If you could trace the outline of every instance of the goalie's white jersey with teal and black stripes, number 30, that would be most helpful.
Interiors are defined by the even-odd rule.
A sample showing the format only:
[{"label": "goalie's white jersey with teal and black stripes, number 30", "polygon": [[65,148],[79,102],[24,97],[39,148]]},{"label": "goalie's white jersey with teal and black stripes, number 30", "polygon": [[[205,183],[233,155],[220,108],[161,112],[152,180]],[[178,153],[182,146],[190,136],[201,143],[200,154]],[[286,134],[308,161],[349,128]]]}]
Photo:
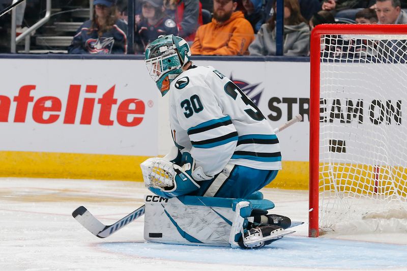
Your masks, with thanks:
[{"label": "goalie's white jersey with teal and black stripes, number 30", "polygon": [[280,144],[257,106],[213,67],[188,69],[171,82],[172,138],[213,177],[227,164],[281,169]]}]

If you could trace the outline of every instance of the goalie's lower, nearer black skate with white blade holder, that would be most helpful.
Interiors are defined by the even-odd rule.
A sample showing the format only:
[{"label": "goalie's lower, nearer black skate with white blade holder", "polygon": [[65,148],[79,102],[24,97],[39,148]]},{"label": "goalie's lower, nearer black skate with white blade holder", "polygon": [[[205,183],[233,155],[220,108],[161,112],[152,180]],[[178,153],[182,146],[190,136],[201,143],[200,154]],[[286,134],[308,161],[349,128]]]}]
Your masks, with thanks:
[{"label": "goalie's lower, nearer black skate with white blade holder", "polygon": [[244,237],[239,240],[239,246],[243,249],[261,248],[294,232],[276,225],[258,226],[245,232]]}]

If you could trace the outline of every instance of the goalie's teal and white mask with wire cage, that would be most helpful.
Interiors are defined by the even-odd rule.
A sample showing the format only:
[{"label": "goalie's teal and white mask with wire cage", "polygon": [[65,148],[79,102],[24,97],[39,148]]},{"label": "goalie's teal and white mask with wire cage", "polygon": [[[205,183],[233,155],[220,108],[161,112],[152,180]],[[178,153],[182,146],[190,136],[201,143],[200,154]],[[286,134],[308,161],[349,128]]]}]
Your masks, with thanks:
[{"label": "goalie's teal and white mask with wire cage", "polygon": [[160,36],[146,49],[146,66],[151,78],[164,96],[172,80],[182,73],[190,60],[188,43],[178,36]]}]

